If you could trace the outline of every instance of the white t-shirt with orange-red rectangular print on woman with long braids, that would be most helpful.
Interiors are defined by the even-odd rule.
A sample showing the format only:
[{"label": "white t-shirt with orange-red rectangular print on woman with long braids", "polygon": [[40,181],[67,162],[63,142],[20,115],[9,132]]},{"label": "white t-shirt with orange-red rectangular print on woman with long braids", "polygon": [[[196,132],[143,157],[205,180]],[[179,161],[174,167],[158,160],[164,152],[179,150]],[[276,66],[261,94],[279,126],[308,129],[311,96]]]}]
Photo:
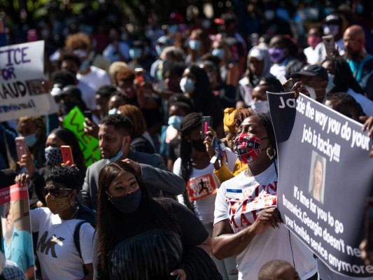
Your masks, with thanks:
[{"label": "white t-shirt with orange-red rectangular print on woman with long braids", "polygon": [[[225,151],[228,160],[227,167],[232,171],[237,160],[236,155],[228,148]],[[190,202],[195,207],[195,214],[199,221],[204,225],[213,223],[216,191],[220,187],[218,178],[213,174],[213,169],[212,163],[204,169],[192,168],[192,174],[190,174],[187,184]],[[174,164],[174,174],[181,176],[181,158],[178,158]],[[184,204],[183,195],[178,195],[178,202]]]}]

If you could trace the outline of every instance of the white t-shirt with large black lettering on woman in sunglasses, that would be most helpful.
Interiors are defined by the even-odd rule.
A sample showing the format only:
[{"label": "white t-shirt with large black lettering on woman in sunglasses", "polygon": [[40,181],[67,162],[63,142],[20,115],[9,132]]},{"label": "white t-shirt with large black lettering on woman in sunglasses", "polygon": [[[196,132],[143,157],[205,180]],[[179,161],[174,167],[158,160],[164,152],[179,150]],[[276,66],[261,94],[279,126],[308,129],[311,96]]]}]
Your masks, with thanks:
[{"label": "white t-shirt with large black lettering on woman in sunglasses", "polygon": [[[31,228],[38,232],[36,254],[44,280],[82,279],[83,265],[73,241],[76,225],[82,220],[61,220],[49,208],[31,210]],[[85,264],[92,263],[94,228],[90,223],[80,227],[80,252]]]}]

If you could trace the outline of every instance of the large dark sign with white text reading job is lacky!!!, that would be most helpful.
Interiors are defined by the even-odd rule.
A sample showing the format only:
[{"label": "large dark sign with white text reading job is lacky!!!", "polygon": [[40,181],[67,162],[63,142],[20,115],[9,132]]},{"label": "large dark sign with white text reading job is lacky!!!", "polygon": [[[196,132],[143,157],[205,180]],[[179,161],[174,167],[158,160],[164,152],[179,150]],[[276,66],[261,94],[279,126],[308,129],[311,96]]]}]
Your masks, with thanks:
[{"label": "large dark sign with white text reading job is lacky!!!", "polygon": [[372,139],[356,121],[303,94],[267,96],[283,222],[334,272],[373,276],[373,266],[363,265],[358,249],[373,188]]}]

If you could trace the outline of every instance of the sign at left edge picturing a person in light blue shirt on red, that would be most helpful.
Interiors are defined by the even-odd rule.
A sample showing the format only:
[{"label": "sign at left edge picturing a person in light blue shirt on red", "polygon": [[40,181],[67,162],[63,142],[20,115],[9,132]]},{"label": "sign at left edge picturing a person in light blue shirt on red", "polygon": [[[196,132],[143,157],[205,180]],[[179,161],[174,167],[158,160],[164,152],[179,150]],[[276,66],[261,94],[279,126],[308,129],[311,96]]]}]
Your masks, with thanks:
[{"label": "sign at left edge picturing a person in light blue shirt on red", "polygon": [[34,267],[28,194],[27,186],[18,184],[0,190],[1,251],[23,272]]}]

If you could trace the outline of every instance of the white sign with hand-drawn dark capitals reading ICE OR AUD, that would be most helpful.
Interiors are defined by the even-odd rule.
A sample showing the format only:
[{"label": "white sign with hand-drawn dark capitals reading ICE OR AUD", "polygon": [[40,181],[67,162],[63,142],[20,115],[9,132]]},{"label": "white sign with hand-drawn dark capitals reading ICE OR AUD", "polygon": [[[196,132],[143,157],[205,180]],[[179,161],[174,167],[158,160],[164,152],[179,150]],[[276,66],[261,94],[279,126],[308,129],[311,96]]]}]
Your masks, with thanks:
[{"label": "white sign with hand-drawn dark capitals reading ICE OR AUD", "polygon": [[1,47],[0,121],[56,113],[44,80],[44,41]]}]

